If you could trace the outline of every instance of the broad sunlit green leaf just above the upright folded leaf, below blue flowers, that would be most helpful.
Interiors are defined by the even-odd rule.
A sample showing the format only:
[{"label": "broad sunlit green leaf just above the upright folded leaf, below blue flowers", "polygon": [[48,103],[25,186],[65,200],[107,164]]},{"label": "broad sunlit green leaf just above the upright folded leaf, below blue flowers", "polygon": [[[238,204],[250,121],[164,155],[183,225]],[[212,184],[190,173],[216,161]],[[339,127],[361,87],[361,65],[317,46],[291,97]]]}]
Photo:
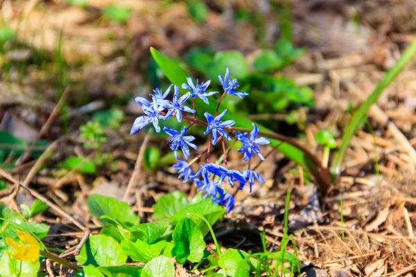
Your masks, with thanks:
[{"label": "broad sunlit green leaf just above the upright folded leaf, below blue flowers", "polygon": [[182,209],[179,213],[175,214],[172,219],[173,220],[181,220],[184,217],[190,217],[193,222],[200,228],[202,235],[206,235],[209,231],[207,224],[199,217],[196,217],[192,214],[202,215],[205,217],[209,224],[212,226],[223,217],[225,213],[225,209],[218,205],[211,202],[211,199],[203,199],[202,201],[187,206]]}]

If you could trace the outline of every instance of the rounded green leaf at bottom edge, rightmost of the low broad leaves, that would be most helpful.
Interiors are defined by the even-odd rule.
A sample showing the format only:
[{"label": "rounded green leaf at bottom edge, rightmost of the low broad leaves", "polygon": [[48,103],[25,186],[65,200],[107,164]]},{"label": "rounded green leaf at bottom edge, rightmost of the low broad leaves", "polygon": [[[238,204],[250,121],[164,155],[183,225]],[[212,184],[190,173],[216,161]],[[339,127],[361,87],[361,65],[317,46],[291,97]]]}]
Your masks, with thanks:
[{"label": "rounded green leaf at bottom edge, rightmost of the low broad leaves", "polygon": [[[218,260],[218,265],[225,270],[227,276],[249,276],[250,260],[248,253],[237,249],[227,249]],[[237,275],[237,272],[242,275]]]}]

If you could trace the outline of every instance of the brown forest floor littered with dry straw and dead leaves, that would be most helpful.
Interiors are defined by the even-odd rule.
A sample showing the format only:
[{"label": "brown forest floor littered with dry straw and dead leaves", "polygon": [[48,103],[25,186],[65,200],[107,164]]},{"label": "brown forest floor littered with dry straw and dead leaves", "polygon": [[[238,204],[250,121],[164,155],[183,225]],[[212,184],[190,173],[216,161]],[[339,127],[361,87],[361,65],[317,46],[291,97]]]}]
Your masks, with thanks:
[{"label": "brown forest floor littered with dry straw and dead leaves", "polygon": [[[139,181],[125,197],[146,134],[129,134],[141,114],[134,97],[148,96],[162,82],[149,62],[150,46],[178,59],[192,46],[211,46],[216,51],[236,49],[250,60],[259,48],[272,45],[279,33],[268,1],[260,0],[235,0],[229,6],[207,1],[210,10],[203,23],[193,21],[180,1],[121,0],[119,6],[132,10],[123,24],[101,17],[110,0],[89,0],[87,8],[58,0],[0,2],[3,22],[16,30],[15,39],[3,45],[0,55],[0,132],[3,139],[8,133],[27,145],[42,139],[51,153],[33,157],[24,154],[27,148],[13,152],[10,148],[17,146],[0,137],[0,150],[7,153],[0,156],[0,169],[92,229],[99,223],[87,213],[88,195],[126,200],[142,222],[149,222],[159,197],[177,190],[192,192],[192,185],[177,179],[171,164],[166,164],[139,170]],[[234,20],[232,10],[237,8],[264,15],[261,26]],[[297,124],[286,123],[287,111],[261,116],[279,126],[275,132],[293,137],[321,158],[315,134],[330,129],[340,142],[351,110],[415,39],[415,8],[410,0],[293,1],[293,43],[306,53],[274,74],[311,87],[314,107],[298,108],[302,120]],[[328,196],[320,195],[319,186],[293,161],[279,152],[270,155],[258,169],[266,184],[237,194],[234,211],[214,226],[223,247],[259,250],[257,234],[265,232],[268,249],[277,251],[284,235],[286,191],[291,189],[288,226],[303,274],[415,273],[415,76],[413,61],[370,109]],[[111,163],[88,174],[57,167],[68,157],[94,157],[94,150],[80,137],[80,125],[112,108],[124,116],[116,127],[105,128],[107,140],[100,145],[104,153],[112,153]],[[168,145],[160,136],[150,136],[148,146],[158,148],[164,157]],[[37,143],[30,152],[45,148]],[[233,156],[229,164],[241,166]],[[15,211],[35,199],[6,179],[0,185],[0,201]],[[31,220],[51,226],[45,239],[49,247],[69,249],[83,238],[83,232],[76,232],[53,209]],[[293,249],[293,244],[287,248]]]}]

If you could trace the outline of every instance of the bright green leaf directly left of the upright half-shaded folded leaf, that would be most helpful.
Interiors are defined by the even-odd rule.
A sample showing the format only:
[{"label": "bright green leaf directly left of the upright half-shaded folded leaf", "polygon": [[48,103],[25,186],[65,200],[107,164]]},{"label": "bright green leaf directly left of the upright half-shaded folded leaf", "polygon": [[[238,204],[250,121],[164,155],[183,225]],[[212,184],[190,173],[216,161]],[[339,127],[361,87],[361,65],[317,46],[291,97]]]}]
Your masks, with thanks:
[{"label": "bright green leaf directly left of the upright half-shaded folded leaf", "polygon": [[165,240],[161,240],[154,244],[147,244],[141,240],[136,240],[135,242],[123,240],[121,242],[121,247],[123,247],[123,252],[130,256],[132,260],[135,260],[136,262],[148,262],[161,255],[168,244],[170,244],[170,242],[166,242]]}]

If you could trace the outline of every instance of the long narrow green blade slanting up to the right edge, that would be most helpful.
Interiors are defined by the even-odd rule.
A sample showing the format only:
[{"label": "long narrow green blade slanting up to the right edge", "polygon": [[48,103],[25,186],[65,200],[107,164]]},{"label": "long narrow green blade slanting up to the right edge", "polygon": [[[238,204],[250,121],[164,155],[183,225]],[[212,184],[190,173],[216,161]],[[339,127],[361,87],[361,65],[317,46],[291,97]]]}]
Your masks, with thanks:
[{"label": "long narrow green blade slanting up to the right edge", "polygon": [[340,174],[340,167],[343,163],[345,153],[347,152],[347,149],[349,148],[349,143],[356,133],[356,130],[358,127],[363,123],[363,120],[365,119],[365,116],[367,114],[367,111],[370,109],[370,107],[376,102],[376,100],[379,98],[381,93],[384,91],[388,85],[395,80],[397,75],[404,69],[404,66],[410,62],[410,60],[413,58],[413,55],[416,53],[416,39],[413,41],[408,48],[403,52],[400,59],[397,61],[396,65],[388,71],[388,73],[385,74],[383,80],[377,84],[377,87],[372,91],[370,96],[363,102],[360,107],[354,112],[351,121],[349,122],[347,128],[345,128],[345,132],[343,134],[343,139],[340,144],[340,148],[335,154],[335,157],[333,159],[333,163],[331,166],[331,174],[333,176],[338,176]]}]

